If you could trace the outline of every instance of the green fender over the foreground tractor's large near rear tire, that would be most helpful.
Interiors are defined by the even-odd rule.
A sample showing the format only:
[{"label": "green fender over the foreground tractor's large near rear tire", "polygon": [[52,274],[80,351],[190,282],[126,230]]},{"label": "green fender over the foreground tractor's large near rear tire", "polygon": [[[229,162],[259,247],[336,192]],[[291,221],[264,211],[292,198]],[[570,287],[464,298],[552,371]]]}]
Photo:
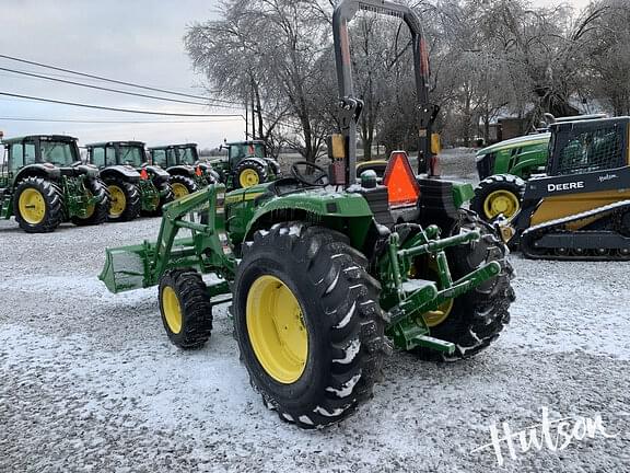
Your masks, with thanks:
[{"label": "green fender over the foreground tractor's large near rear tire", "polygon": [[346,233],[355,249],[364,247],[374,226],[374,215],[363,196],[317,189],[275,197],[260,205],[246,227],[243,241],[252,240],[257,230],[295,220]]}]

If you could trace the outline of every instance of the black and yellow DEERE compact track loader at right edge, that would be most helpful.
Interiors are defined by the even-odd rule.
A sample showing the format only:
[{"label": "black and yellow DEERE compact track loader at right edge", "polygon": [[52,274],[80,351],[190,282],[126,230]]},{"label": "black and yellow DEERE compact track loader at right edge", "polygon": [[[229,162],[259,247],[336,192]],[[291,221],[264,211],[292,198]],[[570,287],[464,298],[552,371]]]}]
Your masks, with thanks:
[{"label": "black and yellow DEERE compact track loader at right edge", "polygon": [[527,182],[505,238],[530,258],[630,261],[630,118],[550,126],[547,174]]}]

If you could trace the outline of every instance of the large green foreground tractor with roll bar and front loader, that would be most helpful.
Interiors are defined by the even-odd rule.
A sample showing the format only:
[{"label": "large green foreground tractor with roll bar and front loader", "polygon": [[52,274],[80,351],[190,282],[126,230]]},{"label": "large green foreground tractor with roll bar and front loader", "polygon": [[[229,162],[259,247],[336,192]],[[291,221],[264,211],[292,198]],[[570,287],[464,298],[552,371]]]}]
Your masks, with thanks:
[{"label": "large green foreground tractor with roll bar and front loader", "polygon": [[[303,428],[339,422],[368,401],[392,345],[448,360],[481,351],[514,299],[505,246],[460,208],[470,185],[417,178],[404,152],[390,158],[385,185],[373,171],[357,184],[362,102],[348,22],[359,8],[401,16],[411,30],[419,146],[432,157],[419,18],[394,2],[343,0],[334,14],[341,129],[330,138],[330,168],[294,164],[290,177],[228,194],[210,185],[175,200],[158,241],[107,250],[100,276],[113,292],[156,286],[164,328],[182,348],[201,347],[213,308],[231,301],[252,384]],[[405,201],[405,189],[415,197]]]}]

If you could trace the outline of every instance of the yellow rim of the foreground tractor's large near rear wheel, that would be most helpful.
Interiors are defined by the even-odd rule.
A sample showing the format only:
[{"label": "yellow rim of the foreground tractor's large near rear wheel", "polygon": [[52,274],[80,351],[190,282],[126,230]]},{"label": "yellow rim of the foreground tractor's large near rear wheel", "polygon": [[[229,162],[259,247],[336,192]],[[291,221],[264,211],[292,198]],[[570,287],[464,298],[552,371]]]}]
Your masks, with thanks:
[{"label": "yellow rim of the foreground tractor's large near rear wheel", "polygon": [[291,289],[273,276],[256,279],[247,295],[246,323],[267,374],[282,384],[298,381],[308,359],[308,331]]}]

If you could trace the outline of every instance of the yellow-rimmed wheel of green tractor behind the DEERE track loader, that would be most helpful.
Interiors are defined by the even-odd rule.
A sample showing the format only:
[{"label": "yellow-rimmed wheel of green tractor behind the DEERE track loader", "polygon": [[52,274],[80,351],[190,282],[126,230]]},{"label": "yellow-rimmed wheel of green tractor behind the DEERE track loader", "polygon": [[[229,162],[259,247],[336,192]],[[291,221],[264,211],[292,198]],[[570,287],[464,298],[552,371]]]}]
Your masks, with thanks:
[{"label": "yellow-rimmed wheel of green tractor behind the DEERE track loader", "polygon": [[470,209],[482,220],[493,221],[499,215],[511,219],[523,203],[525,181],[512,174],[495,174],[485,178],[475,188],[475,197],[470,200]]}]

